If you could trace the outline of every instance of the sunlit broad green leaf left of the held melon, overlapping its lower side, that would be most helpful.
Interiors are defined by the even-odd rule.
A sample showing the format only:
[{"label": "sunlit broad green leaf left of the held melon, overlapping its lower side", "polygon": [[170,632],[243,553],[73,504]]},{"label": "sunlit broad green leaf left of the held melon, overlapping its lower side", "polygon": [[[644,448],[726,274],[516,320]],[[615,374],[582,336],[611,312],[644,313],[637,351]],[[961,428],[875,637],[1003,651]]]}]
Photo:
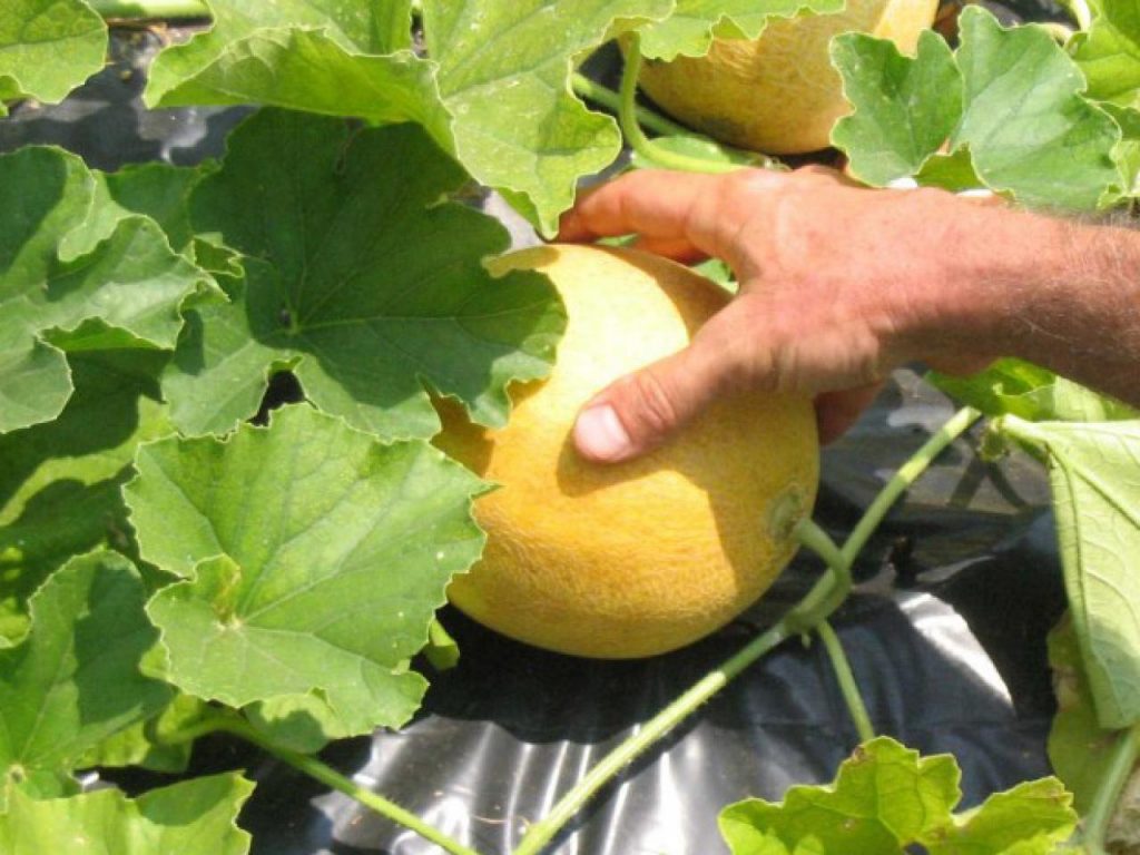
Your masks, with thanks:
[{"label": "sunlit broad green leaf left of the held melon, overlapping its lower side", "polygon": [[310,407],[229,439],[144,446],[125,488],[144,557],[190,577],[148,611],[169,679],[234,707],[312,694],[339,726],[398,726],[450,577],[482,548],[481,482],[424,442],[385,446]]}]

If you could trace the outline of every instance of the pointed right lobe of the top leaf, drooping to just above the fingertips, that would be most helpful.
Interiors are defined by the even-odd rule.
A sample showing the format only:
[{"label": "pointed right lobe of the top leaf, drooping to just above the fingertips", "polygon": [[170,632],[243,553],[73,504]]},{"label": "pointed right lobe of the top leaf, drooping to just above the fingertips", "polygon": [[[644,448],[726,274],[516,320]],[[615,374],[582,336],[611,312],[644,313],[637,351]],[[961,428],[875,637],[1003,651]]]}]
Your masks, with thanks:
[{"label": "pointed right lobe of the top leaf, drooping to just above the fingertips", "polygon": [[616,122],[571,93],[575,63],[618,28],[661,18],[671,7],[673,0],[424,0],[427,54],[439,63],[459,162],[553,235],[578,179],[621,150]]}]

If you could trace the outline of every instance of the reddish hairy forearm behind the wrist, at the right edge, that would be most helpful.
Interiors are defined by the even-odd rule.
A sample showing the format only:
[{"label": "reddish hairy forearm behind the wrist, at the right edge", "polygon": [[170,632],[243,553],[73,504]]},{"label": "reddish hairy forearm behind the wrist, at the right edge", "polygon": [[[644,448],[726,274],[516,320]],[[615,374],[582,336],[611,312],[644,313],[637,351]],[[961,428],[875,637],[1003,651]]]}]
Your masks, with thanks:
[{"label": "reddish hairy forearm behind the wrist, at the right edge", "polygon": [[1140,406],[1140,230],[1000,207],[947,230],[948,282],[917,339],[951,364],[1019,357]]}]

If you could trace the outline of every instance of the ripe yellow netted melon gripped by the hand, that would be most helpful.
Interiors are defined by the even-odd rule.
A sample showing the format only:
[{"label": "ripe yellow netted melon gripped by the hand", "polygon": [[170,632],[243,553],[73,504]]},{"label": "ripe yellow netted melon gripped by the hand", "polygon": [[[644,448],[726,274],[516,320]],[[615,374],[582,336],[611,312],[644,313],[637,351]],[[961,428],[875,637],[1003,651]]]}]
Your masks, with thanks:
[{"label": "ripe yellow netted melon gripped by the hand", "polygon": [[475,620],[542,648],[600,658],[687,644],[752,603],[796,552],[819,478],[808,400],[740,394],[673,442],[616,465],[578,457],[580,407],[683,348],[725,292],[656,255],[547,246],[497,272],[547,274],[569,318],[553,374],[513,386],[497,431],[438,402],[437,445],[500,488],[475,503],[482,560],[448,595]]}]

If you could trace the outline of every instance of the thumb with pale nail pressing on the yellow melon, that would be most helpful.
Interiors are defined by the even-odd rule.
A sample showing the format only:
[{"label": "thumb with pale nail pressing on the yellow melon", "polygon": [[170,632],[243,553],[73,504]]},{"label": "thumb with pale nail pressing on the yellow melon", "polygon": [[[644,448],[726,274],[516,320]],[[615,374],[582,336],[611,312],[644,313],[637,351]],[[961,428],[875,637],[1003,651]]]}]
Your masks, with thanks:
[{"label": "thumb with pale nail pressing on the yellow melon", "polygon": [[676,353],[613,382],[578,414],[578,454],[619,463],[660,446],[693,420],[723,390],[733,373],[733,349],[718,347],[706,332]]}]

